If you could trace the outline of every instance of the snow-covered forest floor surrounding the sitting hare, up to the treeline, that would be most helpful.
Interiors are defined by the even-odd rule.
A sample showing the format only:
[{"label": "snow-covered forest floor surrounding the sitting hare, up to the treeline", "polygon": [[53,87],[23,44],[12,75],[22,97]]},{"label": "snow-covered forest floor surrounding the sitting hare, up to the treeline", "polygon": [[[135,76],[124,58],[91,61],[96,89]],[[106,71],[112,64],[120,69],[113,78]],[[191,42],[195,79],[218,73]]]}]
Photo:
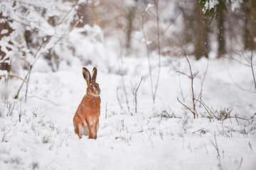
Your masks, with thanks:
[{"label": "snow-covered forest floor surrounding the sitting hare, up to the treeline", "polygon": [[[177,101],[178,97],[193,108],[190,79],[176,73],[178,69],[188,74],[188,63],[182,56],[171,59],[161,58],[156,103],[151,97],[146,57],[123,58],[128,101],[122,77],[97,68],[102,91],[97,140],[85,136],[79,140],[73,131],[73,115],[87,88],[84,66],[58,72],[35,69],[26,102],[24,97],[22,101],[14,99],[21,80],[10,79],[9,109],[1,101],[0,169],[255,169],[256,94],[242,91],[229,76],[230,72],[237,84],[255,91],[250,68],[230,60],[209,60],[202,100],[216,115],[233,109],[233,118],[210,118],[197,103],[198,118],[193,119]],[[198,97],[207,60],[189,60],[193,72],[199,72],[194,79]],[[157,57],[151,62],[156,84]],[[92,71],[92,65],[86,67]],[[115,67],[118,70],[118,64]],[[141,77],[135,113],[134,92]],[[0,84],[6,89],[4,79]],[[20,96],[24,94],[25,88]]]}]

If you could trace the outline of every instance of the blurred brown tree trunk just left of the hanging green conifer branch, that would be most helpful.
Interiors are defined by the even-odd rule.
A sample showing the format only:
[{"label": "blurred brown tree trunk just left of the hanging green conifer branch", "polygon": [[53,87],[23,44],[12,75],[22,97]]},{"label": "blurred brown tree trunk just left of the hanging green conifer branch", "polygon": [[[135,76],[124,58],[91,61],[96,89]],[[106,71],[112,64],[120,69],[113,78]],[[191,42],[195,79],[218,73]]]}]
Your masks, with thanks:
[{"label": "blurred brown tree trunk just left of the hanging green conifer branch", "polygon": [[208,41],[207,41],[207,21],[206,16],[203,16],[203,12],[199,6],[199,0],[196,3],[196,45],[195,45],[195,55],[196,60],[201,57],[208,57]]}]

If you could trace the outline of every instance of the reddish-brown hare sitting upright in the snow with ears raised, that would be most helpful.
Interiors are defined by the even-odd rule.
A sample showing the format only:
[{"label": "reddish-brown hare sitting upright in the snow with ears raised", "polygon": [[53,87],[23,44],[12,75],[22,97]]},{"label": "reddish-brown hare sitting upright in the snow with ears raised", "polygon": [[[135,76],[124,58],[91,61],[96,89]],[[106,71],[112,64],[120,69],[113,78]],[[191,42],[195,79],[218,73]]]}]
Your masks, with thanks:
[{"label": "reddish-brown hare sitting upright in the snow with ears raised", "polygon": [[73,118],[75,134],[79,139],[82,135],[89,135],[89,139],[96,140],[100,117],[100,86],[96,83],[97,68],[93,68],[91,77],[90,72],[83,67],[82,75],[87,82],[87,91]]}]

